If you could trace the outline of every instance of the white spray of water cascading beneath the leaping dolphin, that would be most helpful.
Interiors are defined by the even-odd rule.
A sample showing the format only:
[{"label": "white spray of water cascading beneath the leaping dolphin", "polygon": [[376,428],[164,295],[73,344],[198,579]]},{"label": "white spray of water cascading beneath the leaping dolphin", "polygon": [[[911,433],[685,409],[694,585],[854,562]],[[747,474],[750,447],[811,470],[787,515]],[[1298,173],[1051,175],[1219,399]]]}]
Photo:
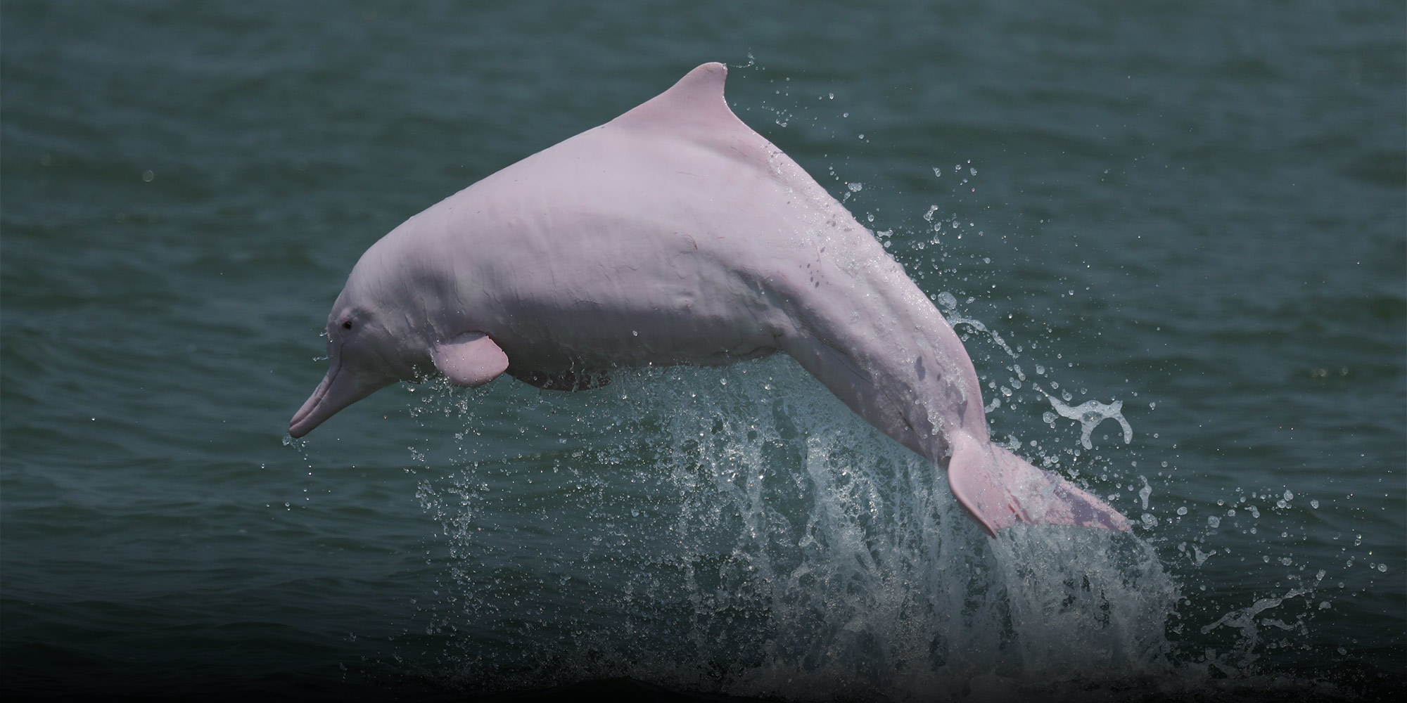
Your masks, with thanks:
[{"label": "white spray of water cascading beneath the leaping dolphin", "polygon": [[[470,423],[476,402],[425,401]],[[563,439],[595,449],[422,484],[456,554],[439,627],[474,633],[454,644],[459,685],[629,675],[905,700],[1075,693],[1171,668],[1178,588],[1147,543],[1029,526],[986,538],[941,470],[791,360],[625,373],[581,411]],[[523,468],[533,484],[556,477],[535,489],[571,498],[526,537],[540,560],[505,569],[499,540],[525,526],[504,510],[525,503],[487,486]]]}]

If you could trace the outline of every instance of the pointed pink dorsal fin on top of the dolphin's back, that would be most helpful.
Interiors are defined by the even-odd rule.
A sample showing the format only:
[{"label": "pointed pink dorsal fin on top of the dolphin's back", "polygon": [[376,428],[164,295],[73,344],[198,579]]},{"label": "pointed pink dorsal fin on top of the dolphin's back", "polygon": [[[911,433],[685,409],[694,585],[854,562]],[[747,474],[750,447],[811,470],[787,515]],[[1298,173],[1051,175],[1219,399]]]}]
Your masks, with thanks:
[{"label": "pointed pink dorsal fin on top of the dolphin's back", "polygon": [[719,129],[749,129],[723,98],[727,66],[705,63],[680,79],[670,90],[642,103],[609,124],[636,129],[704,134]]}]

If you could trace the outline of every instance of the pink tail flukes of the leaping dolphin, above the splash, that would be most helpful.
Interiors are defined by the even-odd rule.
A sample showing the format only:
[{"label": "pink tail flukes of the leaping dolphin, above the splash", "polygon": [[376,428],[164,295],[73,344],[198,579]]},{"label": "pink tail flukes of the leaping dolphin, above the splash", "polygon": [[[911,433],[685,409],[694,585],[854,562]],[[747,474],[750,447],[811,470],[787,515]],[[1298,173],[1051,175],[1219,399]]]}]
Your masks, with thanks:
[{"label": "pink tail flukes of the leaping dolphin, above the splash", "polygon": [[988,534],[1016,524],[1074,524],[1128,530],[1128,520],[1069,481],[967,433],[951,437],[948,485]]}]

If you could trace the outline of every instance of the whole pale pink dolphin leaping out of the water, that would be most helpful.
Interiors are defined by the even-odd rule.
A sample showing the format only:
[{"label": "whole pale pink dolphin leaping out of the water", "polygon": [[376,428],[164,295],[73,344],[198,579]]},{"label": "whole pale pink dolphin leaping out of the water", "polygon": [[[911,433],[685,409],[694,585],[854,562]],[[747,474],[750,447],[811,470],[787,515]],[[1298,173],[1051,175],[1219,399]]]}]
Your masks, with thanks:
[{"label": "whole pale pink dolphin leaping out of the water", "polygon": [[556,389],[644,364],[782,350],[923,457],[989,534],[1124,516],[988,437],[972,361],[875,238],[723,100],[705,63],[629,112],[412,217],[371,246],[328,316],[301,437],[438,370]]}]

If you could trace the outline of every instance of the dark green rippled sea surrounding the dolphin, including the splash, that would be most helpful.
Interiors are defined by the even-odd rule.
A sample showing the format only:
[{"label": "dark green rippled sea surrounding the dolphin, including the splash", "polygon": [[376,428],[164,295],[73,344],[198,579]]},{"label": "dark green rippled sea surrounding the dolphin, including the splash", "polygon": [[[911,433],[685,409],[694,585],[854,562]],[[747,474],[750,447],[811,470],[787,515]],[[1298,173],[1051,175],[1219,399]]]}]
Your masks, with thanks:
[{"label": "dark green rippled sea surrounding the dolphin, including the splash", "polygon": [[[1403,6],[760,6],[0,3],[6,697],[1400,689]],[[986,540],[785,359],[283,439],[369,245],[705,60],[1133,534]]]}]

